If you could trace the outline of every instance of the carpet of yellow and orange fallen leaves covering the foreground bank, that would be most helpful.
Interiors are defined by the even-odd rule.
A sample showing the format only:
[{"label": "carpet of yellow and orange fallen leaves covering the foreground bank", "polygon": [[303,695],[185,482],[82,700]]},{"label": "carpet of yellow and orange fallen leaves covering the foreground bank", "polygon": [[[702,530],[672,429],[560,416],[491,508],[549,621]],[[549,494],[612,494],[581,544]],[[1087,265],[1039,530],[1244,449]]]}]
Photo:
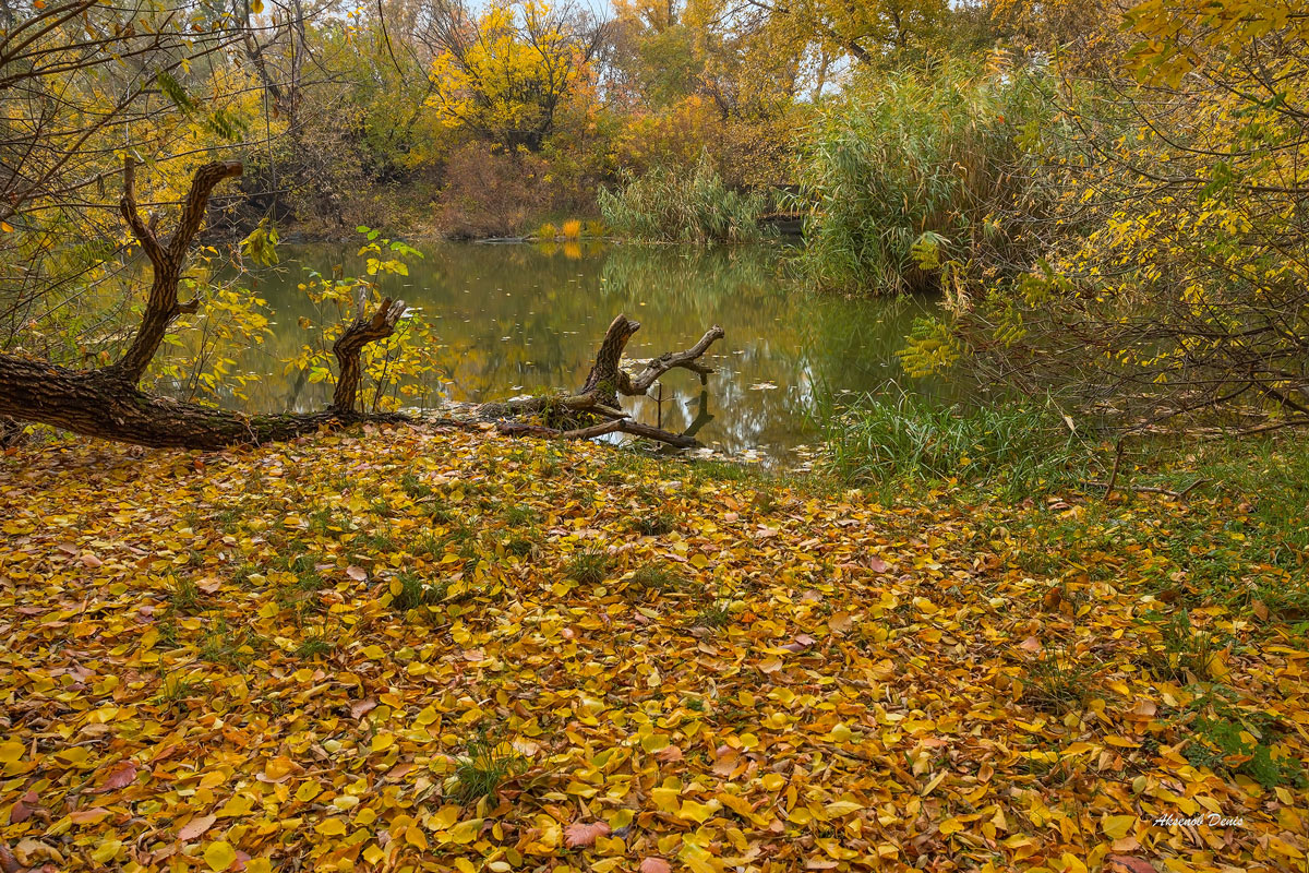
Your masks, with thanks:
[{"label": "carpet of yellow and orange fallen leaves covering the foreground bank", "polygon": [[[1018,510],[600,446],[0,462],[5,873],[1304,869],[1302,636],[1149,666],[1196,509],[1042,575]],[[1186,754],[1216,688],[1263,770]]]}]

